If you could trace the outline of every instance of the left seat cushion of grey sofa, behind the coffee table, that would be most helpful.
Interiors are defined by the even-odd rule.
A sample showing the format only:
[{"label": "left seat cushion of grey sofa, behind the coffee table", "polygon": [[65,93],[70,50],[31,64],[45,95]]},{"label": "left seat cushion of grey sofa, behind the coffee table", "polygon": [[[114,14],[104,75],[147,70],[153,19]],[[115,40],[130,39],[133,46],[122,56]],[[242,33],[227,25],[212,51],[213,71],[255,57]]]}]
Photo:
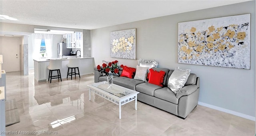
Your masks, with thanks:
[{"label": "left seat cushion of grey sofa, behind the coffee table", "polygon": [[144,81],[118,76],[114,78],[113,83],[119,86],[123,86],[129,89],[135,90],[135,86],[137,84],[144,83]]}]

